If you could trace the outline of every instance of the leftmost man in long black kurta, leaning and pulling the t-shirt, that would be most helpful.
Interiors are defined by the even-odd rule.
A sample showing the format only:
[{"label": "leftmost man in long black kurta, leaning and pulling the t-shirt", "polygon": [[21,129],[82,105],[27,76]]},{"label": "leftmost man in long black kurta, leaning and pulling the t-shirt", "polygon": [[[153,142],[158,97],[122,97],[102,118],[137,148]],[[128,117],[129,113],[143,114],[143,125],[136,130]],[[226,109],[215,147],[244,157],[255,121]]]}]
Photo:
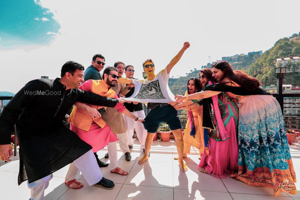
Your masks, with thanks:
[{"label": "leftmost man in long black kurta, leaning and pulling the t-shirt", "polygon": [[[62,124],[76,101],[107,107],[119,102],[77,89],[84,81],[83,70],[79,63],[68,61],[61,69],[61,79],[32,80],[4,107],[0,115],[0,160],[10,161],[8,153],[13,156],[10,132],[16,124],[20,146],[18,184],[28,179],[30,185],[91,151],[90,145]],[[99,169],[95,157],[93,159],[87,162],[95,162]],[[106,189],[113,187],[112,181],[99,178],[102,183],[94,181],[92,184]]]}]

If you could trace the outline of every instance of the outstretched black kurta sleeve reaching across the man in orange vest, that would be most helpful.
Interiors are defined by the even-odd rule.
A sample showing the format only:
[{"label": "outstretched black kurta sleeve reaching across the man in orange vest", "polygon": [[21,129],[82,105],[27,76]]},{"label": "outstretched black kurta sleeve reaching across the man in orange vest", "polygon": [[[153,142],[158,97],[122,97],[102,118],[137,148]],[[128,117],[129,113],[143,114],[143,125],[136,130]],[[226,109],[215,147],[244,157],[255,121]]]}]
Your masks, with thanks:
[{"label": "outstretched black kurta sleeve reaching across the man in orange vest", "polygon": [[118,103],[116,99],[110,97],[102,97],[98,94],[92,92],[83,91],[76,89],[77,91],[77,101],[83,103],[89,103],[92,105],[105,106],[105,107],[115,107]]}]

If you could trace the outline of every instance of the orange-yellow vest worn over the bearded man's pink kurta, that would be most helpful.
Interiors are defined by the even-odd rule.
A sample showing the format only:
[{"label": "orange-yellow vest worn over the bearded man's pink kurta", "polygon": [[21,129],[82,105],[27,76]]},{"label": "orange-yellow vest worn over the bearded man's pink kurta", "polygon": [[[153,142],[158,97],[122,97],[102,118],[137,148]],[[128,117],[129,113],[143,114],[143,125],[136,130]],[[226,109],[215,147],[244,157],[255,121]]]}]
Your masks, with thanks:
[{"label": "orange-yellow vest worn over the bearded man's pink kurta", "polygon": [[[114,98],[116,92],[113,91],[113,89],[109,88],[106,82],[104,80],[93,80],[91,91],[92,93],[98,94],[102,97],[111,97]],[[100,103],[100,102],[99,102]],[[87,103],[86,103],[87,104]],[[100,108],[107,108],[103,106],[96,106],[96,105],[90,105],[87,104],[88,106],[95,108],[95,109],[100,109]],[[81,129],[88,131],[91,127],[92,122],[95,121],[96,124],[98,124],[101,128],[105,126],[105,121],[102,118],[92,118],[90,114],[86,110],[77,108],[74,106],[70,117],[68,118],[68,122],[70,122],[73,126]]]}]

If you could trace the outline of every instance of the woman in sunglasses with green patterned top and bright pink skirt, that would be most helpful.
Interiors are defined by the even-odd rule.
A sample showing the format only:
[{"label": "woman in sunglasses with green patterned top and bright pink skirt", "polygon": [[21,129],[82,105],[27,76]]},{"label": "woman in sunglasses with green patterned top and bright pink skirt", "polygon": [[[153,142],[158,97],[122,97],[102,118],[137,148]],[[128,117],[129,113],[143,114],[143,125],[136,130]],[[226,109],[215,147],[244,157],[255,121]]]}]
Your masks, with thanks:
[{"label": "woman in sunglasses with green patterned top and bright pink skirt", "polygon": [[[199,75],[203,88],[217,82],[212,77],[211,69],[200,70]],[[189,101],[195,102],[198,100]],[[238,106],[225,92],[209,98],[209,101],[208,106],[210,103],[213,105],[215,120],[210,132],[207,128],[204,129],[203,140],[206,148],[199,164],[199,170],[203,173],[219,175],[224,178],[236,169],[238,162],[238,142],[236,139]],[[202,103],[202,100],[198,102]],[[179,109],[182,105],[176,105],[175,109]],[[210,114],[210,107],[206,109],[209,109]],[[211,118],[211,115],[203,115],[203,120],[208,117]],[[203,125],[203,127],[206,126]]]}]

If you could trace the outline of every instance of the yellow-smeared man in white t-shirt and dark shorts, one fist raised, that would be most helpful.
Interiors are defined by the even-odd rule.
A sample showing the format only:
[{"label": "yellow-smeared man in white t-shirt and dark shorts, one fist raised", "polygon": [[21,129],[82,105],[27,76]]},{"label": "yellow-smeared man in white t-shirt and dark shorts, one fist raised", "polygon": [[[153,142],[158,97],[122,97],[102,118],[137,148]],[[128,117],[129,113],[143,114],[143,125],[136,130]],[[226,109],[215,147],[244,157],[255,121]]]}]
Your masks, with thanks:
[{"label": "yellow-smeared man in white t-shirt and dark shorts, one fist raised", "polygon": [[[153,137],[158,129],[159,124],[167,123],[176,137],[176,146],[178,151],[178,162],[183,172],[187,171],[187,166],[182,159],[183,154],[183,138],[180,120],[177,116],[177,111],[173,106],[168,105],[167,102],[174,98],[170,88],[168,86],[168,79],[171,69],[180,60],[184,51],[190,47],[190,43],[185,42],[182,49],[178,54],[170,61],[167,67],[161,70],[158,74],[154,73],[154,63],[152,59],[147,59],[143,63],[144,72],[146,72],[148,78],[143,80],[125,79],[120,78],[118,82],[131,84],[134,83],[136,89],[131,96],[136,99],[142,99],[150,102],[155,102],[154,99],[158,99],[158,102],[165,103],[148,103],[148,109],[151,109],[143,122],[145,129],[147,130],[147,138],[145,142],[145,155],[139,160],[139,164],[143,164],[149,158],[150,148],[153,142]],[[150,83],[150,84],[149,84]],[[139,86],[139,87],[137,87]],[[169,95],[170,94],[170,95]],[[151,98],[150,98],[151,97]],[[129,98],[130,99],[130,98]]]}]

